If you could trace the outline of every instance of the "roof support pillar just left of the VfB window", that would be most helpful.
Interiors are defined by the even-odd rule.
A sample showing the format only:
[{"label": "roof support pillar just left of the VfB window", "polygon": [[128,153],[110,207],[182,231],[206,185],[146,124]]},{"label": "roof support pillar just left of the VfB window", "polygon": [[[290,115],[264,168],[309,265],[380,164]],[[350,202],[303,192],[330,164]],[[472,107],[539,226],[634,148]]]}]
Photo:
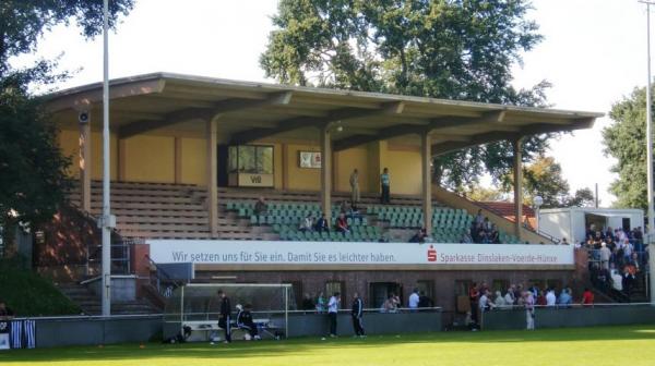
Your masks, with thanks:
[{"label": "roof support pillar just left of the VfB window", "polygon": [[212,237],[218,234],[218,157],[217,157],[217,122],[206,121],[205,136],[207,141],[207,212]]}]

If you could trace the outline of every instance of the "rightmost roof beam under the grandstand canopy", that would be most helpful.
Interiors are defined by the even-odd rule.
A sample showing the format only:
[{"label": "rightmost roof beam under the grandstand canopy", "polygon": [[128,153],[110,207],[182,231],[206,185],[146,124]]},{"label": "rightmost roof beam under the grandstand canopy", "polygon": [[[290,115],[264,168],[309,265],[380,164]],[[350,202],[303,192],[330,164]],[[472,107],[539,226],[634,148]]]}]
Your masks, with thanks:
[{"label": "rightmost roof beam under the grandstand canopy", "polygon": [[553,125],[549,123],[536,123],[529,125],[526,129],[521,130],[520,132],[510,134],[508,134],[507,132],[499,131],[486,132],[483,134],[472,136],[471,139],[467,142],[444,142],[434,144],[432,145],[432,155],[442,155],[460,150],[469,146],[496,143],[502,139],[516,139],[523,136],[539,135],[545,133],[569,132],[574,130],[590,129],[594,125],[594,118],[577,119],[573,123],[565,126],[561,124]]}]

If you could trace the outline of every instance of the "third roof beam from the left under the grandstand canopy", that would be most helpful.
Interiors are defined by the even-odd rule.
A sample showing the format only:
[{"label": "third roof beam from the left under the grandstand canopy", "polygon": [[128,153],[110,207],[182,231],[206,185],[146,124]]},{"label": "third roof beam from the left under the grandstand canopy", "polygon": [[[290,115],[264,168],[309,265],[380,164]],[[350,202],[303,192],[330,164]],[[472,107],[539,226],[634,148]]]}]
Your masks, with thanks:
[{"label": "third roof beam from the left under the grandstand canopy", "polygon": [[334,151],[345,150],[358,145],[372,143],[376,141],[388,139],[409,134],[431,133],[437,130],[464,126],[478,123],[502,122],[504,111],[485,112],[476,118],[468,117],[440,117],[432,120],[426,120],[424,125],[397,124],[380,130],[377,135],[355,135],[342,141],[334,142]]}]

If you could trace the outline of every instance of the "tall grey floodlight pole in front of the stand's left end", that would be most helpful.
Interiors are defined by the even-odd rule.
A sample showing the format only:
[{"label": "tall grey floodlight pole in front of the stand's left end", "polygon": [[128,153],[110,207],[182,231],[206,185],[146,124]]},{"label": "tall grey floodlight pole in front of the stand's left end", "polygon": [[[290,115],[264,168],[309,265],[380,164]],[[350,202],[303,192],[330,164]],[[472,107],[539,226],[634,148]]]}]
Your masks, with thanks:
[{"label": "tall grey floodlight pole in front of the stand's left end", "polygon": [[111,211],[109,207],[109,0],[103,8],[103,316],[111,315]]}]

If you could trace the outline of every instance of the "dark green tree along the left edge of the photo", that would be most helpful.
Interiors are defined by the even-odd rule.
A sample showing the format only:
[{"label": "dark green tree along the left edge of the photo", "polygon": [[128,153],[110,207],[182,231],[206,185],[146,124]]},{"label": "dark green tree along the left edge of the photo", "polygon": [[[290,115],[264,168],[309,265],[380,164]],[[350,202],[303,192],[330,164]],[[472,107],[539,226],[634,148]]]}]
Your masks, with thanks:
[{"label": "dark green tree along the left edge of the photo", "polygon": [[[110,24],[127,14],[133,0],[110,1]],[[0,229],[11,243],[13,228],[51,218],[68,187],[70,160],[56,145],[57,129],[49,122],[31,85],[66,77],[41,60],[25,69],[11,65],[13,57],[33,52],[40,36],[57,24],[74,22],[86,37],[103,28],[103,1],[3,0],[0,2]],[[62,45],[63,46],[63,45]]]}]

